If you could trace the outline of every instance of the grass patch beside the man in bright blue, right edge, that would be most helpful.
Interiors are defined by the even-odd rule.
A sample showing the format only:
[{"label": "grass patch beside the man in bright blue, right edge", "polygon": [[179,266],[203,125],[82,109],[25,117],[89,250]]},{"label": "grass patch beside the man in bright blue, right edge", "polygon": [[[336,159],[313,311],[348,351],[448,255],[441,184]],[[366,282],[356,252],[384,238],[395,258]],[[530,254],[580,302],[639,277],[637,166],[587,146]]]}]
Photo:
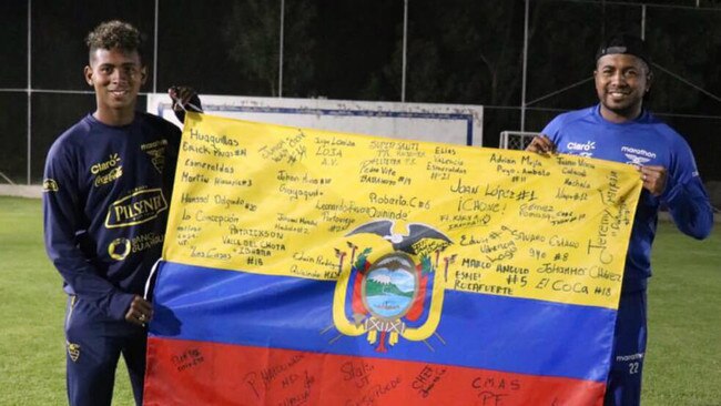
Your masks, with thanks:
[{"label": "grass patch beside the man in bright blue, right edge", "polygon": [[695,241],[662,224],[649,287],[643,405],[721,405],[721,224]]}]

